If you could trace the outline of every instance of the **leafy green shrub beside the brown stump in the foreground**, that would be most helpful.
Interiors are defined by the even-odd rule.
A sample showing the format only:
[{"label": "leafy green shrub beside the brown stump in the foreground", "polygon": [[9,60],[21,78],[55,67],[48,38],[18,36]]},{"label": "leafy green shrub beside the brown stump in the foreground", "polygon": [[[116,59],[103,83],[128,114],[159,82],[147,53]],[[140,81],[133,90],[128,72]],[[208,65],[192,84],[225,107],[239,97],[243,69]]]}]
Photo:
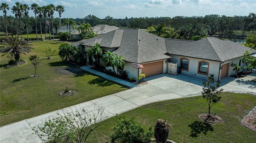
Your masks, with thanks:
[{"label": "leafy green shrub beside the brown stump in the foreground", "polygon": [[110,133],[112,143],[148,143],[151,141],[154,131],[152,127],[146,130],[141,124],[136,123],[134,118],[118,116],[118,122],[113,127],[114,133]]}]

